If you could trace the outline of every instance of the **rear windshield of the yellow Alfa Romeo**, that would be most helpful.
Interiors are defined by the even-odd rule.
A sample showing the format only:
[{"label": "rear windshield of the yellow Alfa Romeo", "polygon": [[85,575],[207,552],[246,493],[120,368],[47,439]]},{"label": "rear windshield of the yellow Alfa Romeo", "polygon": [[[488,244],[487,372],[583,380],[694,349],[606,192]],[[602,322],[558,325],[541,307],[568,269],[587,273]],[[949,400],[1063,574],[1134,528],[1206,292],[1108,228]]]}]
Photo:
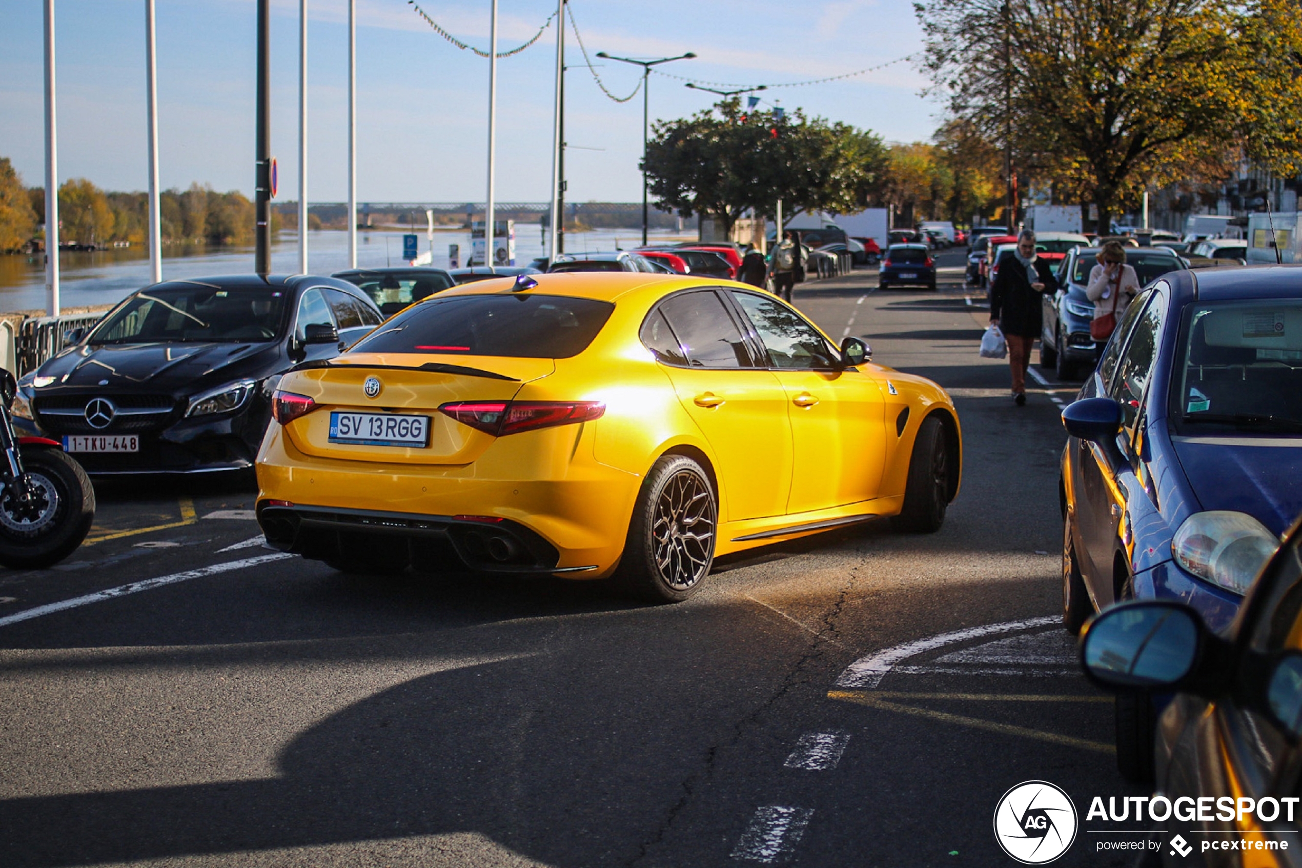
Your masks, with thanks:
[{"label": "rear windshield of the yellow Alfa Romeo", "polygon": [[591,298],[525,293],[435,298],[398,314],[353,350],[566,359],[592,342],[613,310]]}]

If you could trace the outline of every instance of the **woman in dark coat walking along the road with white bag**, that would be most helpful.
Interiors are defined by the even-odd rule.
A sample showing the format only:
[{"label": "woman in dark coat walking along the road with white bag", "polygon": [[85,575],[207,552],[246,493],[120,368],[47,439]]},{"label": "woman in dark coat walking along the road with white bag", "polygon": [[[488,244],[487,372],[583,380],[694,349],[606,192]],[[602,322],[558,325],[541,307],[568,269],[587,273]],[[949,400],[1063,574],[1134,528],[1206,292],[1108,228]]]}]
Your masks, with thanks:
[{"label": "woman in dark coat walking along the road with white bag", "polygon": [[1008,364],[1013,372],[1013,401],[1026,403],[1026,370],[1031,345],[1040,336],[1044,293],[1057,292],[1053,269],[1035,255],[1035,233],[1017,237],[1017,250],[999,259],[999,275],[990,288],[990,321],[1008,341]]}]

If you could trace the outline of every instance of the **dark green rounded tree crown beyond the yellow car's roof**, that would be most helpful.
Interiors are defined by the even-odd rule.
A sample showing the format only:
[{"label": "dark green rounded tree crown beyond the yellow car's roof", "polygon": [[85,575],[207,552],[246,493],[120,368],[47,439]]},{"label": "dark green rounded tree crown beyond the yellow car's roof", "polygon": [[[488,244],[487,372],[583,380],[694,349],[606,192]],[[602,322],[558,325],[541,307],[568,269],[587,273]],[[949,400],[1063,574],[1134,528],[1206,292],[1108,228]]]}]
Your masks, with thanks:
[{"label": "dark green rounded tree crown beyond the yellow car's roof", "polygon": [[736,98],[691,117],[661,121],[644,168],[656,207],[719,220],[732,232],[746,211],[859,211],[883,182],[876,135],[803,112],[743,112]]}]

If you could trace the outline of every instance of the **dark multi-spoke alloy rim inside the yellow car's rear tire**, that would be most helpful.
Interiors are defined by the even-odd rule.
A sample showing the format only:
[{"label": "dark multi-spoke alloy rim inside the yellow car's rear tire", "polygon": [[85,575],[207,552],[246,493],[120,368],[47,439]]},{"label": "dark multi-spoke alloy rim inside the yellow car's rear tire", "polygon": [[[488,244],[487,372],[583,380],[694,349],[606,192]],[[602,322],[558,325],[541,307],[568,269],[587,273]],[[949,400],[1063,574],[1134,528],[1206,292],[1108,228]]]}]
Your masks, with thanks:
[{"label": "dark multi-spoke alloy rim inside the yellow car's rear tire", "polygon": [[655,565],[674,591],[704,578],[715,547],[715,504],[706,481],[680,470],[660,489],[651,522]]}]

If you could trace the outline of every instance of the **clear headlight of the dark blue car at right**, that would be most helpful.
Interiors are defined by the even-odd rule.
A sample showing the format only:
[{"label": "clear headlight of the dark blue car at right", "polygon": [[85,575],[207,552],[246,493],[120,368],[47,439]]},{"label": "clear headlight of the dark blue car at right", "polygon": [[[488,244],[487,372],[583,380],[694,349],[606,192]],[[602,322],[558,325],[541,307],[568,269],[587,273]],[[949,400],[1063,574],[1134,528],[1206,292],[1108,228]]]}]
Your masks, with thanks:
[{"label": "clear headlight of the dark blue car at right", "polygon": [[1245,593],[1280,537],[1243,513],[1194,513],[1170,540],[1176,562],[1200,579]]}]

